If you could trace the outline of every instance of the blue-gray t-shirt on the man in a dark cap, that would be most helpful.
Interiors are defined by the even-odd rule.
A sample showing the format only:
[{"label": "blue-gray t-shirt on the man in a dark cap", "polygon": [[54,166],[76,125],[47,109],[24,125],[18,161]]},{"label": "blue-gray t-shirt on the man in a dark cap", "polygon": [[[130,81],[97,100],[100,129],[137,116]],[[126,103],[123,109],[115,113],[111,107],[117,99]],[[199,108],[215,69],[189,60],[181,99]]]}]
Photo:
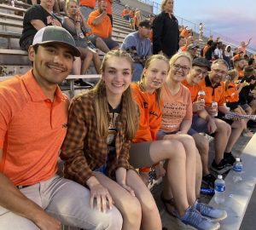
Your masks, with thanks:
[{"label": "blue-gray t-shirt on the man in a dark cap", "polygon": [[137,50],[137,55],[140,57],[145,57],[152,55],[151,43],[149,38],[141,38],[138,35],[138,32],[131,32],[125,37],[124,42],[122,43],[121,49],[129,49],[135,47]]}]

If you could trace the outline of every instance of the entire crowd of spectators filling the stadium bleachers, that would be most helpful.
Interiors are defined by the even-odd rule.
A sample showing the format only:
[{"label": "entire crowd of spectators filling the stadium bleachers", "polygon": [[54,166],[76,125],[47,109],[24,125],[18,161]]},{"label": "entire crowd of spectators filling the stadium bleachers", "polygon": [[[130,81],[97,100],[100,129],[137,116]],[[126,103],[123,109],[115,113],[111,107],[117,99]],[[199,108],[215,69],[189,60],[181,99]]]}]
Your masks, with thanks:
[{"label": "entire crowd of spectators filling the stadium bleachers", "polygon": [[[195,228],[218,229],[226,211],[198,198],[202,181],[212,188],[216,173],[231,169],[240,136],[253,135],[251,39],[232,50],[210,37],[200,52],[196,41],[203,40],[203,23],[197,40],[188,26],[179,28],[173,0],[163,0],[160,14],[147,19],[125,5],[121,16],[134,32],[119,48],[112,38],[113,0],[69,0],[65,7],[55,0],[32,3],[20,37],[32,70],[0,85],[0,228],[15,229],[17,222],[24,229],[58,229],[62,222],[160,230],[160,214],[146,187],[154,172],[156,179],[164,178],[161,201],[170,215]],[[56,14],[55,3],[65,16]],[[106,53],[102,61],[98,49]],[[91,61],[102,78],[68,110],[58,83],[72,71],[86,74]],[[83,85],[81,79],[76,83]],[[209,142],[201,133],[214,137],[210,167]],[[55,175],[59,152],[67,179]],[[25,158],[32,161],[25,164]],[[41,186],[50,194],[39,194]],[[41,204],[38,196],[47,202]],[[58,202],[68,207],[58,209]]]}]

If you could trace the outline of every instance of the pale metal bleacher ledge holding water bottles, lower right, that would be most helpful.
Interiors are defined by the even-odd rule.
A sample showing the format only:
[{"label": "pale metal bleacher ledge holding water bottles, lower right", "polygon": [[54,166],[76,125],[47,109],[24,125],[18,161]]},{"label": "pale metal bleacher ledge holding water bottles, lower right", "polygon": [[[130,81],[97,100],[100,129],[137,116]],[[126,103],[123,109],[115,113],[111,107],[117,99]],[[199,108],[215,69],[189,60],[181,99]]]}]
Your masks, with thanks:
[{"label": "pale metal bleacher ledge holding water bottles, lower right", "polygon": [[[233,171],[225,177],[226,184],[224,204],[216,204],[214,197],[210,201],[210,205],[215,208],[224,209],[228,213],[228,217],[221,221],[222,230],[238,230],[241,221],[246,213],[247,205],[250,202],[252,193],[256,183],[256,135],[251,140],[241,154],[243,164],[242,181],[235,183],[233,181]],[[256,227],[251,228],[256,229]]]}]

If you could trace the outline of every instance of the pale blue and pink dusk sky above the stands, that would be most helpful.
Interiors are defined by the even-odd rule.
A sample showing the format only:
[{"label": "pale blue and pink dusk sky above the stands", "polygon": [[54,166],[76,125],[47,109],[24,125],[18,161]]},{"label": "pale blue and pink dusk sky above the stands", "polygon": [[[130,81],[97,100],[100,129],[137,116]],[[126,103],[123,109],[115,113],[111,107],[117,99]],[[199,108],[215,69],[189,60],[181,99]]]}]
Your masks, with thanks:
[{"label": "pale blue and pink dusk sky above the stands", "polygon": [[[153,0],[161,3],[161,0]],[[205,23],[207,37],[211,32],[214,37],[221,37],[224,41],[236,43],[252,41],[250,48],[256,50],[256,1],[254,0],[175,0],[174,14],[199,25]],[[189,21],[177,18],[180,25],[192,27],[198,31]],[[218,34],[217,34],[218,33]],[[214,35],[215,35],[214,34]]]}]

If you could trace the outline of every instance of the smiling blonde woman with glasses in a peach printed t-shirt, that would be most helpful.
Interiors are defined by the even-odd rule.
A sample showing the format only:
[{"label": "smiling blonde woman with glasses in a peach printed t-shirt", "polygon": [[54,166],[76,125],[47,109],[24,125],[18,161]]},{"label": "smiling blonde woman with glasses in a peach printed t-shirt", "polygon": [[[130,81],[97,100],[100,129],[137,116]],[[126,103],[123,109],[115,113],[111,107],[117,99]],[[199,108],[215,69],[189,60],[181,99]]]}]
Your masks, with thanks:
[{"label": "smiling blonde woman with glasses in a peach printed t-shirt", "polygon": [[[191,58],[187,53],[178,53],[172,56],[169,64],[170,72],[162,88],[162,123],[158,132],[158,139],[177,140],[183,144],[186,155],[186,186],[184,189],[187,193],[189,209],[191,209],[186,210],[186,214],[187,211],[193,213],[190,216],[192,219],[200,219],[201,216],[207,216],[214,218],[215,221],[223,220],[227,216],[225,211],[215,210],[207,204],[199,203],[196,199],[200,197],[201,158],[195,147],[193,137],[187,135],[192,122],[192,103],[189,89],[182,84],[191,68]],[[166,183],[166,180],[164,182]],[[166,208],[172,208],[171,202],[167,202],[172,200],[172,191],[167,188],[164,187],[162,200],[165,202]],[[218,227],[219,224],[218,226],[211,226],[207,222],[206,226],[197,228],[218,229]]]}]

